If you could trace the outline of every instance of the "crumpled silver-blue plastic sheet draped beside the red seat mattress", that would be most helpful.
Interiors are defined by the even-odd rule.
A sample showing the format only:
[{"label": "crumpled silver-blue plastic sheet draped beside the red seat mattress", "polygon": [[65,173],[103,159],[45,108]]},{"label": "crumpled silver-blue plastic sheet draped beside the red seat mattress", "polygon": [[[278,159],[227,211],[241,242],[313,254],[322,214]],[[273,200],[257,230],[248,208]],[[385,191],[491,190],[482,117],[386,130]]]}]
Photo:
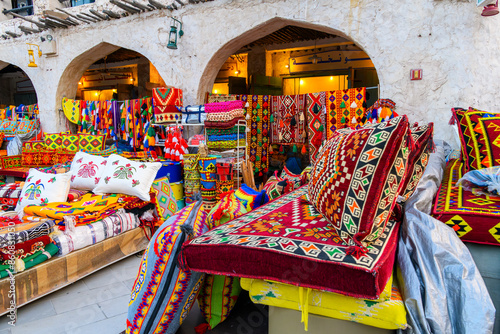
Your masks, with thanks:
[{"label": "crumpled silver-blue plastic sheet draped beside the red seat mattress", "polygon": [[398,281],[411,327],[403,332],[491,333],[495,307],[469,250],[429,215],[444,167],[444,147],[437,146],[405,205]]}]

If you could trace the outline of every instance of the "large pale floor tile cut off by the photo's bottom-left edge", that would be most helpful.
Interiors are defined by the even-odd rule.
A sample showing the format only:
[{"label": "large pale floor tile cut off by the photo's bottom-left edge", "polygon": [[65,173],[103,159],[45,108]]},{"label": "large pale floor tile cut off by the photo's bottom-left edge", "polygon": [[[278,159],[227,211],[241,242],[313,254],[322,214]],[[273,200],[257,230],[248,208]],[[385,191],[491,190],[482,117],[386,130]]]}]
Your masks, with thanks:
[{"label": "large pale floor tile cut off by the photo's bottom-left edge", "polygon": [[[73,333],[75,328],[106,319],[99,306],[91,305],[62,314],[41,318],[26,324],[18,323],[11,329],[12,334],[59,334]],[[98,332],[102,333],[102,332]]]}]

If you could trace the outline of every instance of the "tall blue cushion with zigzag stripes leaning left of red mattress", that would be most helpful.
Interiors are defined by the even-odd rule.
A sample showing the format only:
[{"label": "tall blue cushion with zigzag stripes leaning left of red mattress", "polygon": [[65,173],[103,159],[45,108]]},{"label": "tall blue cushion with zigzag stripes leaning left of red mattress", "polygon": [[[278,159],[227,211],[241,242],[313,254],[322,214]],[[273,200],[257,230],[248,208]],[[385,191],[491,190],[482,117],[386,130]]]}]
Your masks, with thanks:
[{"label": "tall blue cushion with zigzag stripes leaning left of red mattress", "polygon": [[170,217],[151,238],[134,282],[127,333],[175,333],[201,289],[204,275],[180,269],[178,255],[186,239],[207,231],[201,202]]}]

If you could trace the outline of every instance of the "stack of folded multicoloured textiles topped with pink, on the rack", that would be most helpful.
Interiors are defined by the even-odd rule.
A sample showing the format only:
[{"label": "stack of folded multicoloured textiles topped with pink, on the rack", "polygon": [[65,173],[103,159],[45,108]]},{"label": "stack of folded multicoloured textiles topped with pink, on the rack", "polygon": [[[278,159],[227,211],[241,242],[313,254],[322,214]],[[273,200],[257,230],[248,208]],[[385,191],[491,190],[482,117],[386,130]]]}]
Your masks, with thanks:
[{"label": "stack of folded multicoloured textiles topped with pink, on the rack", "polygon": [[[208,148],[245,146],[246,121],[242,101],[207,103],[205,112]],[[244,123],[238,126],[240,120]]]}]

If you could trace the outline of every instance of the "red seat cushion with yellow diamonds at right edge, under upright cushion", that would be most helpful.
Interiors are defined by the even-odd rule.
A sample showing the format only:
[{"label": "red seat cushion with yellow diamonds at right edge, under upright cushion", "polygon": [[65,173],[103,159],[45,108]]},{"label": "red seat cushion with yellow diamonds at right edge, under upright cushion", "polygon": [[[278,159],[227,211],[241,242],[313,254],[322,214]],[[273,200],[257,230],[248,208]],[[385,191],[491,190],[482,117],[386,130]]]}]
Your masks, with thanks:
[{"label": "red seat cushion with yellow diamonds at right edge, under upright cushion", "polygon": [[465,162],[448,162],[432,216],[450,226],[462,241],[500,246],[500,198],[476,196],[455,186],[464,173]]}]

